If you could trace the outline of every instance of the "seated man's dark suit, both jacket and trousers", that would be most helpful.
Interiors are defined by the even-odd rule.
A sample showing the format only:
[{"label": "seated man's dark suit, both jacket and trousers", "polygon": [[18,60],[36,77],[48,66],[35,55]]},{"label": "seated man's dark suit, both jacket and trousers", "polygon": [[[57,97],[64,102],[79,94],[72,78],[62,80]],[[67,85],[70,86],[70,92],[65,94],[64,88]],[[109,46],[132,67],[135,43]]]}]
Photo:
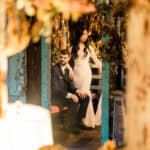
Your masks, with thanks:
[{"label": "seated man's dark suit, both jacket and trousers", "polygon": [[[66,99],[67,93],[76,94],[76,88],[74,87],[72,80],[69,78],[69,70],[65,73],[62,72],[60,64],[56,64],[52,67],[51,72],[51,89],[52,97],[51,104],[57,105],[60,108],[67,106],[68,110],[68,123],[70,127],[76,127],[77,123],[80,123],[82,118],[85,117],[89,97],[81,99],[79,96],[79,102],[75,103],[72,99]],[[80,103],[80,106],[78,105]],[[78,108],[79,106],[79,108]]]}]

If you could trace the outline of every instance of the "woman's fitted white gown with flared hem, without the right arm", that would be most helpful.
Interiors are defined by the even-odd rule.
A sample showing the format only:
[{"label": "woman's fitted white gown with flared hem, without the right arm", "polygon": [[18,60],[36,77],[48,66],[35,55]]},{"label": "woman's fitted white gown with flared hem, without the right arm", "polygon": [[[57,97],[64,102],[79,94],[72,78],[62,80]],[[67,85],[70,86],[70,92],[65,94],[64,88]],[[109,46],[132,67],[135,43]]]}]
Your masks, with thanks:
[{"label": "woman's fitted white gown with flared hem, without the right arm", "polygon": [[86,92],[90,96],[90,101],[88,104],[86,117],[83,119],[83,122],[88,127],[95,127],[95,125],[100,125],[101,123],[101,98],[98,103],[97,112],[94,113],[93,103],[91,99],[91,81],[92,81],[92,72],[89,64],[90,54],[88,52],[86,57],[79,56],[74,61],[74,77],[73,82],[76,88]]}]

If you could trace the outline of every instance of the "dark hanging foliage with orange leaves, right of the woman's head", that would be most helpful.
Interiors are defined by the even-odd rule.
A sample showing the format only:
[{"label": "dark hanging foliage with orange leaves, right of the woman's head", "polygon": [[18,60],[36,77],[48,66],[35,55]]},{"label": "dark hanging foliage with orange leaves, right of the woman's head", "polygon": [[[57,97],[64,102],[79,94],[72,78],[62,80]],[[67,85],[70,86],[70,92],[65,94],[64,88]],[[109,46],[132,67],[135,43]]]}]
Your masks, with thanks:
[{"label": "dark hanging foliage with orange leaves, right of the woman's head", "polygon": [[91,16],[93,45],[99,50],[101,58],[117,64],[123,62],[122,48],[126,40],[125,11],[127,4],[127,0],[110,0],[101,3],[97,1],[97,14]]}]

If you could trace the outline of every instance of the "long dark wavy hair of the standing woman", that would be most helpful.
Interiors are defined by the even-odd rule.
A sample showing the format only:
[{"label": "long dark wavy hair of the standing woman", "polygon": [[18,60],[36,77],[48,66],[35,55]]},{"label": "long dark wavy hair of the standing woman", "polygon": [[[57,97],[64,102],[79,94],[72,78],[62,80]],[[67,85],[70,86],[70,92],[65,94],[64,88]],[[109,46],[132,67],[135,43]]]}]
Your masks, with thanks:
[{"label": "long dark wavy hair of the standing woman", "polygon": [[[78,49],[79,49],[79,42],[80,37],[83,34],[84,30],[89,31],[89,22],[86,18],[87,16],[83,16],[80,18],[77,22],[69,21],[69,29],[70,29],[70,44],[71,44],[71,55],[72,59],[78,57]],[[84,57],[88,54],[89,49],[89,42],[88,39],[84,42],[85,48],[84,48]]]}]

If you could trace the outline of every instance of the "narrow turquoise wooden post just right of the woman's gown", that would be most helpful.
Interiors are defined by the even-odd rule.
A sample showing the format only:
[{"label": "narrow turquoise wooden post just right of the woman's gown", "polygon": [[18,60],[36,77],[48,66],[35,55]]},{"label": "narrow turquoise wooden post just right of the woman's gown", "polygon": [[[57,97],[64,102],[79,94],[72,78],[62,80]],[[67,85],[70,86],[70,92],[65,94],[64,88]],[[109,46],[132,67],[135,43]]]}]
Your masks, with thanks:
[{"label": "narrow turquoise wooden post just right of the woman's gown", "polygon": [[102,140],[104,144],[109,139],[109,63],[102,62]]}]

